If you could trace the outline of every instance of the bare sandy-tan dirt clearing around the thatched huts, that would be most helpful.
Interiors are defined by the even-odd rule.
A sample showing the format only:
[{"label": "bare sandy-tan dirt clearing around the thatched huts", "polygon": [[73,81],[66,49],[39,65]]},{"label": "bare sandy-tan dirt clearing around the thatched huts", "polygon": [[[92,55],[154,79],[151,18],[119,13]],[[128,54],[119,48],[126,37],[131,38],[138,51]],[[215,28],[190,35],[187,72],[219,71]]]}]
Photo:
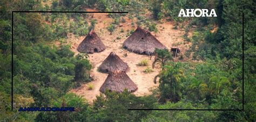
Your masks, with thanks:
[{"label": "bare sandy-tan dirt clearing around the thatched huts", "polygon": [[[87,10],[89,11],[89,10]],[[95,11],[95,10],[90,10]],[[136,96],[143,96],[143,95],[149,95],[151,94],[150,89],[156,88],[159,84],[154,84],[153,79],[154,77],[159,73],[160,67],[159,65],[154,68],[152,73],[145,73],[144,70],[147,68],[147,66],[138,66],[138,63],[142,61],[143,59],[146,59],[149,61],[149,66],[152,68],[152,62],[154,60],[154,56],[152,56],[152,59],[150,60],[150,56],[146,55],[139,55],[136,53],[131,53],[126,51],[122,48],[123,42],[127,34],[127,30],[131,30],[131,25],[127,25],[127,23],[130,23],[131,20],[125,17],[126,23],[120,23],[122,24],[121,27],[117,27],[116,30],[110,35],[110,32],[107,31],[106,27],[112,22],[112,19],[107,17],[106,13],[93,13],[93,19],[97,19],[97,24],[95,26],[95,32],[99,36],[99,38],[103,41],[104,45],[106,46],[105,51],[100,53],[93,53],[89,54],[89,60],[93,65],[93,69],[91,70],[91,76],[93,76],[94,80],[91,82],[93,85],[93,89],[89,90],[87,88],[87,84],[82,84],[81,87],[77,89],[72,89],[71,92],[81,95],[84,98],[87,99],[89,103],[93,102],[93,99],[96,98],[97,95],[100,94],[99,88],[104,83],[107,74],[100,73],[97,69],[100,66],[100,64],[103,62],[103,60],[113,51],[116,53],[124,62],[126,62],[129,66],[129,70],[126,72],[126,74],[131,78],[131,80],[137,85],[138,90],[133,92]],[[105,21],[105,25],[104,25]],[[179,43],[178,47],[181,49],[181,52],[184,52],[190,44],[183,43],[182,35],[184,34],[183,30],[174,30],[174,24],[171,22],[166,22],[163,24],[157,24],[159,33],[157,33],[156,38],[164,44],[167,48],[171,48],[172,44]],[[120,32],[121,28],[123,28],[124,32]],[[136,28],[134,28],[135,30]],[[152,33],[154,35],[154,33]],[[81,37],[75,37],[74,35],[70,34],[68,36],[68,44],[71,44],[71,51],[75,52],[75,54],[78,54],[77,46],[82,42],[82,40],[85,38],[84,36]],[[118,38],[117,38],[118,37]],[[127,53],[127,56],[124,56]]]}]

